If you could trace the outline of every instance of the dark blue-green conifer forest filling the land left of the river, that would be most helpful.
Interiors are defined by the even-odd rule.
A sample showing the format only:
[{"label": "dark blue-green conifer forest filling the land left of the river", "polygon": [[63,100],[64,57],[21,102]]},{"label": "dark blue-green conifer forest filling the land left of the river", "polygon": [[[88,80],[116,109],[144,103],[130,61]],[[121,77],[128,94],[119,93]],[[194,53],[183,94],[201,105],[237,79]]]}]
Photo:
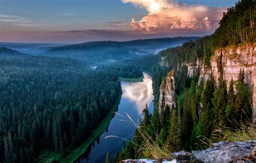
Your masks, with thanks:
[{"label": "dark blue-green conifer forest filling the land left of the river", "polygon": [[0,161],[65,155],[96,130],[122,92],[118,77],[72,59],[0,50]]}]

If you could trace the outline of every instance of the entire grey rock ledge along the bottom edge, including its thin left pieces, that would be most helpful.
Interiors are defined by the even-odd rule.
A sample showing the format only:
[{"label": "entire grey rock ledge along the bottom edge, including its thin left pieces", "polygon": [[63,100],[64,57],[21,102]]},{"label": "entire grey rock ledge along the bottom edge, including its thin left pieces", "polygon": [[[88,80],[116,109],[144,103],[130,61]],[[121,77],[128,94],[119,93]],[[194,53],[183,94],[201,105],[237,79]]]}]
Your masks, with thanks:
[{"label": "entire grey rock ledge along the bottom edge, including its thin left pieces", "polygon": [[[214,143],[212,147],[203,151],[176,152],[172,156],[174,160],[169,162],[255,162],[256,140],[246,142],[221,141]],[[154,160],[124,160],[124,163],[157,162]],[[168,161],[163,161],[168,162]]]}]

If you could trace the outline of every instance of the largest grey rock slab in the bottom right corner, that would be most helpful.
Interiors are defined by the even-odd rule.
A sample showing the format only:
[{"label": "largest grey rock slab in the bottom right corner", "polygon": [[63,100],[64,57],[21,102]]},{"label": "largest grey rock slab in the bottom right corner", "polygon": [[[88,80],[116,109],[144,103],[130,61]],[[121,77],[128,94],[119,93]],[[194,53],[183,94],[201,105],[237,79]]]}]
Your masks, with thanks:
[{"label": "largest grey rock slab in the bottom right corner", "polygon": [[203,162],[254,162],[251,153],[256,140],[246,142],[221,141],[204,151],[192,151],[194,158]]}]

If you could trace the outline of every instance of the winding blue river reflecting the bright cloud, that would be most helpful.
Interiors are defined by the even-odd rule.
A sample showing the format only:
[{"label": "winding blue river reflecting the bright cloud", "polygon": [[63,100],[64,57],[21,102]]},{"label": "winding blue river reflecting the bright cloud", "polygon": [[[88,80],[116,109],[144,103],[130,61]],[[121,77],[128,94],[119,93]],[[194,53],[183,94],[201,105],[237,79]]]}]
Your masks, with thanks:
[{"label": "winding blue river reflecting the bright cloud", "polygon": [[[139,117],[142,115],[146,104],[149,105],[150,113],[153,112],[152,78],[148,73],[143,72],[143,75],[142,82],[127,83],[121,81],[123,94],[117,111],[118,114],[126,118],[126,113],[129,114],[137,124],[139,124]],[[123,118],[118,114],[114,115],[106,131],[87,149],[78,162],[103,163],[107,152],[113,159],[117,150],[122,151],[123,140],[120,138],[132,139],[136,128],[131,123],[123,121]],[[105,138],[110,135],[120,138]]]}]

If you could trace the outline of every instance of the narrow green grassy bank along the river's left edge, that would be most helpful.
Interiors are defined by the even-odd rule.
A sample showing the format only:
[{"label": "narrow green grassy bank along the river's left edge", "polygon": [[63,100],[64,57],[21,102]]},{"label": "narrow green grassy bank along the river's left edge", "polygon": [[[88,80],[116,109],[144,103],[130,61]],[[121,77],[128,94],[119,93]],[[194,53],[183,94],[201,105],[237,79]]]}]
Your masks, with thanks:
[{"label": "narrow green grassy bank along the river's left edge", "polygon": [[109,121],[113,117],[114,112],[117,111],[121,97],[122,92],[120,92],[116,103],[111,108],[109,113],[107,113],[106,117],[102,120],[102,123],[100,123],[98,128],[93,131],[91,136],[82,145],[77,147],[75,150],[69,151],[64,158],[60,157],[60,154],[58,152],[44,150],[41,152],[41,154],[39,154],[36,162],[75,162],[77,159],[79,159],[79,157],[85,153],[87,148],[106,130],[107,126],[109,125]]}]

